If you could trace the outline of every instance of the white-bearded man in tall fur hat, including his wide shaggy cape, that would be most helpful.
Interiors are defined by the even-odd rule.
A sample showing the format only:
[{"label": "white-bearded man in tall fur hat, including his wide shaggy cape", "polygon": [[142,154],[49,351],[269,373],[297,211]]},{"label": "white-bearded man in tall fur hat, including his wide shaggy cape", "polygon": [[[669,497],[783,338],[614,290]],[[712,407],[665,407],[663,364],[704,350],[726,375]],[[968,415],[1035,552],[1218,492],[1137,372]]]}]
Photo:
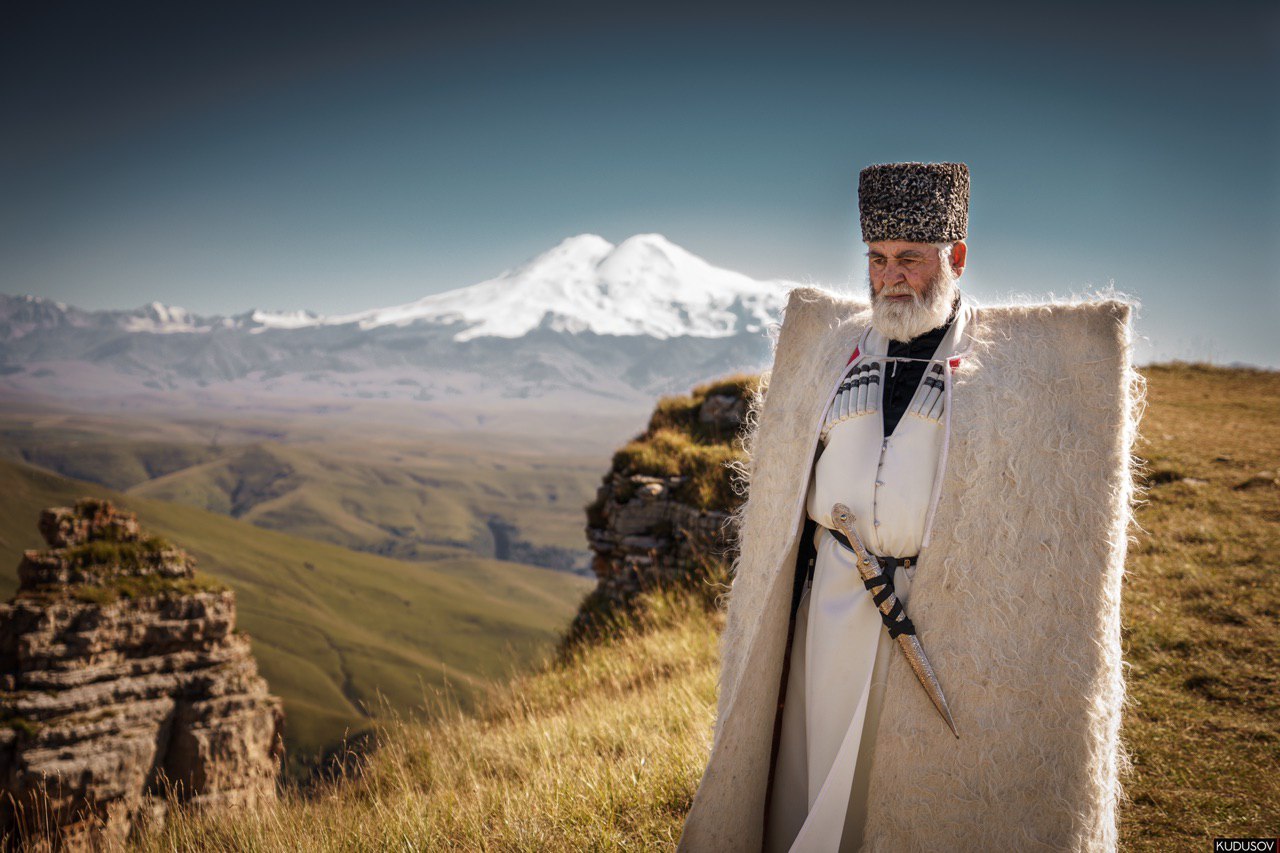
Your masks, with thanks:
[{"label": "white-bearded man in tall fur hat, including his wide shaggy cape", "polygon": [[870,311],[791,295],[681,849],[1115,844],[1128,305],[979,311],[956,284],[968,201],[964,164],[864,169]]}]

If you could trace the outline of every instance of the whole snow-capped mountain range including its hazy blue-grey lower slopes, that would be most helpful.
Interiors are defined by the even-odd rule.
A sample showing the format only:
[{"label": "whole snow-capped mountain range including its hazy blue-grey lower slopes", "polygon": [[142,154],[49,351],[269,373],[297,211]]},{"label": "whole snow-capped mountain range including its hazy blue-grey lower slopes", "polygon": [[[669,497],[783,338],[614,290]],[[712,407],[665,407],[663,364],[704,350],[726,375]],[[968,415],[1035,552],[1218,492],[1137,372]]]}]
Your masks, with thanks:
[{"label": "whole snow-capped mountain range including its hazy blue-grey lower slopes", "polygon": [[660,234],[617,246],[580,234],[479,284],[344,315],[198,316],[160,302],[86,311],[0,296],[0,394],[234,386],[308,398],[573,389],[652,400],[764,368],[764,329],[788,287],[713,266]]}]

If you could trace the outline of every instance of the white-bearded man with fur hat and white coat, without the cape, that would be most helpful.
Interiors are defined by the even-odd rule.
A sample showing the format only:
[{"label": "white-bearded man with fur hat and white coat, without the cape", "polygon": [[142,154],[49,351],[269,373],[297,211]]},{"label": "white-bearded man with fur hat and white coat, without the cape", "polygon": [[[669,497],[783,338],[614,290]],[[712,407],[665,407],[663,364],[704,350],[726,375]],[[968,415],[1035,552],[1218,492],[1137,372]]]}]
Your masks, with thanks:
[{"label": "white-bearded man with fur hat and white coat, without the cape", "polygon": [[893,643],[831,508],[841,502],[854,511],[859,538],[906,605],[942,450],[943,365],[963,342],[961,307],[973,310],[956,287],[968,256],[964,164],[864,169],[858,197],[872,320],[828,406],[810,478],[803,542],[812,547],[803,557],[768,850],[856,849],[861,840]]}]

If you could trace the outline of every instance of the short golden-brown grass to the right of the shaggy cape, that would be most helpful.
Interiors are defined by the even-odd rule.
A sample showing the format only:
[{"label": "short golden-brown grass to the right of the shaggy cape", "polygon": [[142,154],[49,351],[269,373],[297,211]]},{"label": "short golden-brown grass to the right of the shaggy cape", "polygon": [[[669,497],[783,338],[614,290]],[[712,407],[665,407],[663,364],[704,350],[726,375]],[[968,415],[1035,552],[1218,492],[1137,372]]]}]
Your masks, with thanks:
[{"label": "short golden-brown grass to the right of the shaggy cape", "polygon": [[[1124,594],[1129,850],[1280,831],[1280,374],[1144,370]],[[1265,474],[1267,473],[1267,474]]]}]

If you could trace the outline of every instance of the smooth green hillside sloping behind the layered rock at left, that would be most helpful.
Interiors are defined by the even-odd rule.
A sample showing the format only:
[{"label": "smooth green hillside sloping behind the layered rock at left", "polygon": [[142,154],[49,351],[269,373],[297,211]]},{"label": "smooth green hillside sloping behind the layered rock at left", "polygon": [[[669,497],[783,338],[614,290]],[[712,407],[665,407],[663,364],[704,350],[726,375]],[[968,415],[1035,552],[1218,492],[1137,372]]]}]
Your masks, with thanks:
[{"label": "smooth green hillside sloping behind the layered rock at left", "polygon": [[291,758],[371,727],[380,698],[408,713],[449,684],[470,703],[552,646],[590,583],[476,557],[406,562],[291,537],[195,507],[118,494],[0,461],[0,592],[42,507],[109,497],[236,589],[239,626],[284,699]]}]

